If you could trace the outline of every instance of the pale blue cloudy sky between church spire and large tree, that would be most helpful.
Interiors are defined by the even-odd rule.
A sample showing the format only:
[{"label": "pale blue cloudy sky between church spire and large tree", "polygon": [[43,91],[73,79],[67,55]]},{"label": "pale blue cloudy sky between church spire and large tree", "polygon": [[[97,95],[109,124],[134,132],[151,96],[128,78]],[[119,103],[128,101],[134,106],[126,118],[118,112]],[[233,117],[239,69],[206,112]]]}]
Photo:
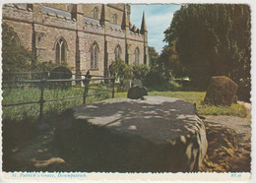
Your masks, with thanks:
[{"label": "pale blue cloudy sky between church spire and large tree", "polygon": [[163,31],[170,26],[174,12],[180,7],[181,5],[174,4],[131,5],[131,24],[141,29],[144,11],[148,29],[148,45],[155,47],[160,53],[162,47],[166,45],[166,42],[162,41],[164,38]]}]

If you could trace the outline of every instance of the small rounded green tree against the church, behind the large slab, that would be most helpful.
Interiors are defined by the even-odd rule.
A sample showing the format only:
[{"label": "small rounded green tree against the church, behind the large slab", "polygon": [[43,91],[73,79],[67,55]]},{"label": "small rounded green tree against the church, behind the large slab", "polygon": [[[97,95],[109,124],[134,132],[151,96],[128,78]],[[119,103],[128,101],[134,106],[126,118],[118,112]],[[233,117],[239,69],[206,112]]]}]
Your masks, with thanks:
[{"label": "small rounded green tree against the church, behind the large slab", "polygon": [[120,58],[117,58],[110,64],[109,72],[111,77],[119,78],[121,85],[124,84],[125,80],[132,79],[133,77],[132,68]]}]

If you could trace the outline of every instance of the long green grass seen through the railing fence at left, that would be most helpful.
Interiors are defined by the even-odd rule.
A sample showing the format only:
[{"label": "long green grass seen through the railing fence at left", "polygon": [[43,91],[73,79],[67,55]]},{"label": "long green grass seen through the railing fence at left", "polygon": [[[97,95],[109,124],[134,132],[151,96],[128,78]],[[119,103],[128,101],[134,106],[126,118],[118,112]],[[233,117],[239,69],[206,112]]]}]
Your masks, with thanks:
[{"label": "long green grass seen through the railing fence at left", "polygon": [[[94,87],[96,89],[96,87]],[[97,89],[105,90],[105,88],[98,87]],[[110,90],[109,90],[110,91]],[[96,91],[91,90],[90,93],[95,93]],[[44,90],[44,99],[62,98],[68,96],[83,95],[83,88],[71,88],[68,90],[54,89]],[[38,101],[40,97],[40,91],[36,88],[24,88],[16,90],[3,90],[3,100],[2,104],[20,103],[28,101]],[[94,101],[99,101],[111,97],[111,93],[93,95],[87,97],[87,103]],[[64,99],[58,101],[45,102],[43,104],[44,116],[52,114],[60,114],[65,109],[76,105],[83,104],[83,97]],[[25,118],[36,119],[39,116],[39,104],[26,104],[18,106],[8,106],[2,108],[3,114],[2,119],[9,120],[23,120]]]}]

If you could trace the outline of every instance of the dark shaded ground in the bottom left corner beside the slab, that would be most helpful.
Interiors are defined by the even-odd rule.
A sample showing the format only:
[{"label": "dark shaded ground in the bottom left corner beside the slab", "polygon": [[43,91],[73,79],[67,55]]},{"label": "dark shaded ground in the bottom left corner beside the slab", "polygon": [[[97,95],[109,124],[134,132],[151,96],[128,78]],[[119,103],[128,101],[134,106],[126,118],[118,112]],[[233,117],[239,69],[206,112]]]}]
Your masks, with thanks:
[{"label": "dark shaded ground in the bottom left corner beside the slab", "polygon": [[[5,149],[4,171],[64,171],[68,170],[65,160],[54,148],[54,129],[37,134],[26,145]],[[25,142],[24,142],[25,143]]]}]

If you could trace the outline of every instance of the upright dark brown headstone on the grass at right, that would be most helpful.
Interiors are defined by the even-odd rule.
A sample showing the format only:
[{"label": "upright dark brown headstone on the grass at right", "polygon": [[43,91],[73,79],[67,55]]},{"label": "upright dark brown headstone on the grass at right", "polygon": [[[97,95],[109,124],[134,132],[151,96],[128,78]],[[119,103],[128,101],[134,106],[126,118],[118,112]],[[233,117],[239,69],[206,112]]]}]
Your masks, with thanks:
[{"label": "upright dark brown headstone on the grass at right", "polygon": [[213,77],[207,89],[204,103],[230,106],[236,90],[237,85],[228,77]]}]

